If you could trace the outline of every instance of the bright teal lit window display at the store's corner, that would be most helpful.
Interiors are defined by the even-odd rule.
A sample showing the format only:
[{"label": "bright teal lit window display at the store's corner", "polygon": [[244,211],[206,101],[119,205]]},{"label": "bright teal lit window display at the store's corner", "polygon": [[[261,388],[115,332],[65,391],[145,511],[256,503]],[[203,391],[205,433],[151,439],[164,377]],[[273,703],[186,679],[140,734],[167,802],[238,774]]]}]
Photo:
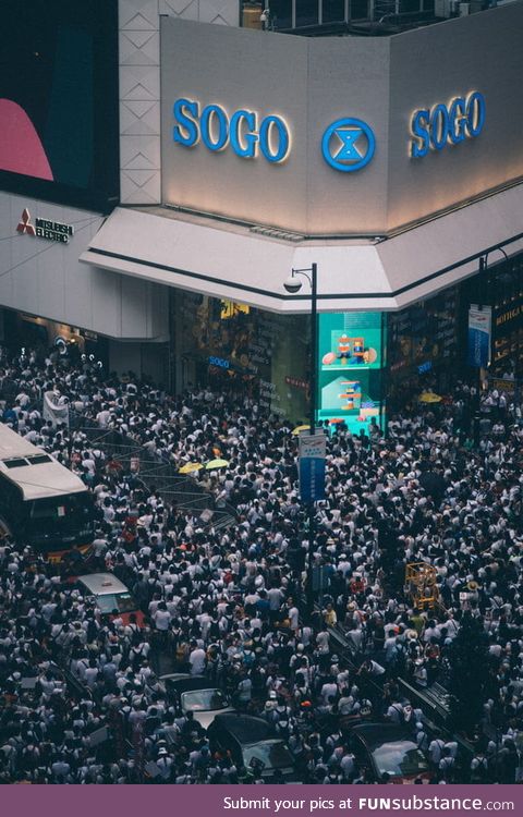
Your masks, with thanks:
[{"label": "bright teal lit window display at the store's corner", "polygon": [[356,435],[382,427],[381,324],[381,313],[319,316],[319,419]]}]

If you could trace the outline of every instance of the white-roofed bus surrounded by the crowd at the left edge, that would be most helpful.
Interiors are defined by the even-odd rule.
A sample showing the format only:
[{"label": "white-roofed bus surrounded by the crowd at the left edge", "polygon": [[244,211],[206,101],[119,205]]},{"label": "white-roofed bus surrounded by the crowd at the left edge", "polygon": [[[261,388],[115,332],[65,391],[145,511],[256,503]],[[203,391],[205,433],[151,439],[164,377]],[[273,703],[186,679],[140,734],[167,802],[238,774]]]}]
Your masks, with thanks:
[{"label": "white-roofed bus surrounded by the crowd at the left edge", "polygon": [[53,456],[0,423],[0,535],[51,562],[95,538],[93,495]]}]

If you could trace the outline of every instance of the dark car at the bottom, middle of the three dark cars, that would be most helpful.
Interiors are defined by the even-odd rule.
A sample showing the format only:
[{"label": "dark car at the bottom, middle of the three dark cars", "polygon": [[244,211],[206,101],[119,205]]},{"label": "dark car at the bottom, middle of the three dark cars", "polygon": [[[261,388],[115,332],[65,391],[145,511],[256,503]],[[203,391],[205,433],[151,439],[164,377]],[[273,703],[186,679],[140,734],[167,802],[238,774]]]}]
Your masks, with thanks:
[{"label": "dark car at the bottom, middle of the three dark cars", "polygon": [[257,767],[267,782],[277,773],[285,782],[296,779],[287,743],[263,718],[240,712],[217,715],[207,735],[212,752],[230,754],[239,767]]}]

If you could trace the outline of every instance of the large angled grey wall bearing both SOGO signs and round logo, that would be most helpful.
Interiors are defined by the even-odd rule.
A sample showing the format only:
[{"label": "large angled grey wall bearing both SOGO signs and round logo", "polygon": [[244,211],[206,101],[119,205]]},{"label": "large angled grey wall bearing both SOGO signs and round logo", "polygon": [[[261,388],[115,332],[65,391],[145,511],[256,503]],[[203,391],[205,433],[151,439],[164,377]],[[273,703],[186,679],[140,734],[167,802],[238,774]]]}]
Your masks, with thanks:
[{"label": "large angled grey wall bearing both SOGO signs and round logo", "polygon": [[368,38],[161,17],[163,202],[374,237],[498,190],[523,176],[521,25],[523,4]]}]

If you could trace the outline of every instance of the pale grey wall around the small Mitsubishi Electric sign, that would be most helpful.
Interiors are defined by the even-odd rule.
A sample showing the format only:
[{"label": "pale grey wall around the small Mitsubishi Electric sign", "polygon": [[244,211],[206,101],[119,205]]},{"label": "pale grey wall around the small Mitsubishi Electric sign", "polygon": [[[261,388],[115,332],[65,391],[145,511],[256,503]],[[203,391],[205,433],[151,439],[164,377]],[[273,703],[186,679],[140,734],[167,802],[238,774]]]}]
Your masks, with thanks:
[{"label": "pale grey wall around the small Mitsubishi Electric sign", "polygon": [[[32,223],[72,224],[69,243],[19,233],[25,208]],[[163,340],[165,288],[78,261],[102,221],[98,214],[0,193],[0,304],[112,338]]]}]

